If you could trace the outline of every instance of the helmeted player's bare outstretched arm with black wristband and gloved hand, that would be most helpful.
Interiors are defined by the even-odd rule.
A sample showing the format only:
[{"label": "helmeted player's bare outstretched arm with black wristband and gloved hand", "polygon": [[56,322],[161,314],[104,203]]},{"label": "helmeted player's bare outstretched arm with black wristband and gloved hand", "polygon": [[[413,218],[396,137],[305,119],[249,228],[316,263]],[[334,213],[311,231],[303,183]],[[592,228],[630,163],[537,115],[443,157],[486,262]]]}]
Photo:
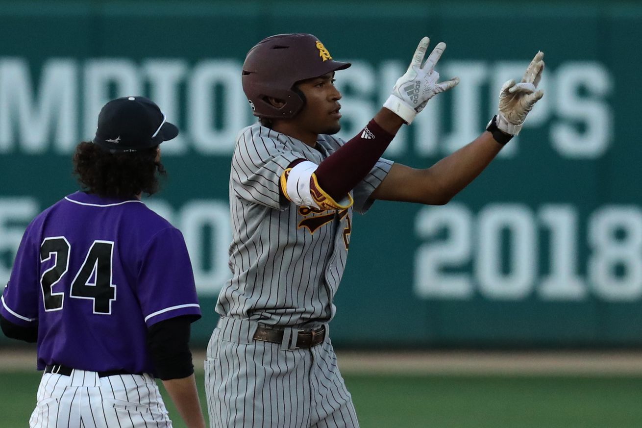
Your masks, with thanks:
[{"label": "helmeted player's bare outstretched arm with black wristband and gloved hand", "polygon": [[426,169],[395,163],[372,193],[373,199],[442,205],[459,193],[489,165],[499,150],[517,135],[526,115],[544,93],[537,84],[544,70],[544,53],[538,52],[521,82],[509,80],[499,94],[499,112],[485,132],[472,143]]}]

